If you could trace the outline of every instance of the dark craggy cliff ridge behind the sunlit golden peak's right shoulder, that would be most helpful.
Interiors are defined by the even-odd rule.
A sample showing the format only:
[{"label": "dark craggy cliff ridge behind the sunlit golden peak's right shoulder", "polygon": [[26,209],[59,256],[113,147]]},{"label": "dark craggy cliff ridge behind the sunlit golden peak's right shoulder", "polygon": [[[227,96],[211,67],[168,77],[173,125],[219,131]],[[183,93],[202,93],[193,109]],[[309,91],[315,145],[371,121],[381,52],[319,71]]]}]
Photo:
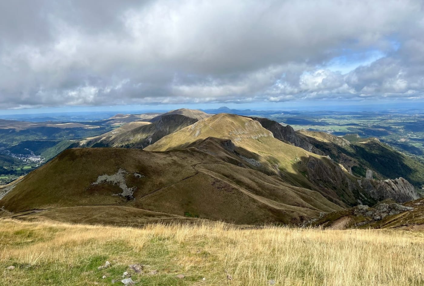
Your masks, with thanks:
[{"label": "dark craggy cliff ridge behind the sunlit golden peak's right shoulder", "polygon": [[275,138],[290,142],[294,146],[300,147],[306,151],[309,151],[318,155],[324,155],[324,153],[321,150],[319,150],[318,148],[315,148],[315,146],[313,146],[307,140],[298,136],[292,126],[290,125],[282,126],[278,122],[267,119],[267,118],[258,118],[258,117],[251,117],[251,118],[256,121],[259,121],[262,127],[271,131]]}]

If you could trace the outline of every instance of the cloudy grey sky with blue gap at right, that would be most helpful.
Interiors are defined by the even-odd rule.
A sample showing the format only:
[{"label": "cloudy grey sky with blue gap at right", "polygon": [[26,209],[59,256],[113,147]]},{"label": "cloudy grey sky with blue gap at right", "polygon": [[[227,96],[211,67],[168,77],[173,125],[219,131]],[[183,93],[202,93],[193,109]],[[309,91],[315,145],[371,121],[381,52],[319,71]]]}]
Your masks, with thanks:
[{"label": "cloudy grey sky with blue gap at right", "polygon": [[0,113],[424,108],[423,35],[422,0],[0,1]]}]

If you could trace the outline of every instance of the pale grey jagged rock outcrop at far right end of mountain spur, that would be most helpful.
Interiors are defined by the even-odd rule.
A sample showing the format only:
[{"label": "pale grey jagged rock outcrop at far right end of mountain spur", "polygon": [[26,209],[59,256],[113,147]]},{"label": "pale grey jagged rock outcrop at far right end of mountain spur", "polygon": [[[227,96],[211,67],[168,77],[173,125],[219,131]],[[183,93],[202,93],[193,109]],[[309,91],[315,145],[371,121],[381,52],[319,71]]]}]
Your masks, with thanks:
[{"label": "pale grey jagged rock outcrop at far right end of mountain spur", "polygon": [[399,203],[404,203],[419,198],[415,187],[404,178],[394,180],[362,179],[360,185],[377,201],[392,198]]}]

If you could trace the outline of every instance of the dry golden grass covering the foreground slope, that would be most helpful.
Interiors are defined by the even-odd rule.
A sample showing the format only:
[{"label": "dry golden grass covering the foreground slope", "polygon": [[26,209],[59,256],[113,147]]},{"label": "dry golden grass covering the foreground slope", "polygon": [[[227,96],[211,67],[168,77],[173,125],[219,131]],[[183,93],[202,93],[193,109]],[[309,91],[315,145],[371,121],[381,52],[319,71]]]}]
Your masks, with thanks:
[{"label": "dry golden grass covering the foreground slope", "polygon": [[[419,232],[14,220],[0,229],[0,285],[111,285],[128,264],[146,265],[132,277],[137,285],[424,285]],[[98,270],[105,261],[112,267]],[[153,269],[159,274],[148,275]]]}]

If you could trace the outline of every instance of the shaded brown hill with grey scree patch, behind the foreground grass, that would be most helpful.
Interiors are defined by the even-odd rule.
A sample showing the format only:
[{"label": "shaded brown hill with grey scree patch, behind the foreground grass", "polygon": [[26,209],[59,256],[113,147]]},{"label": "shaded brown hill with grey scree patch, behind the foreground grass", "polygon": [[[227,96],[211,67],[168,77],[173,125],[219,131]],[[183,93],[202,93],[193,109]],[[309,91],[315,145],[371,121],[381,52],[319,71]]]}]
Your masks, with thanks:
[{"label": "shaded brown hill with grey scree patch, behind the foreground grass", "polygon": [[[68,149],[25,176],[0,205],[13,213],[39,209],[43,211],[29,213],[65,221],[75,213],[94,220],[103,206],[120,206],[248,224],[296,224],[341,209],[318,192],[217,160],[195,148]],[[135,219],[134,212],[128,215]],[[118,218],[127,221],[126,216]],[[116,223],[116,216],[102,220]]]}]

